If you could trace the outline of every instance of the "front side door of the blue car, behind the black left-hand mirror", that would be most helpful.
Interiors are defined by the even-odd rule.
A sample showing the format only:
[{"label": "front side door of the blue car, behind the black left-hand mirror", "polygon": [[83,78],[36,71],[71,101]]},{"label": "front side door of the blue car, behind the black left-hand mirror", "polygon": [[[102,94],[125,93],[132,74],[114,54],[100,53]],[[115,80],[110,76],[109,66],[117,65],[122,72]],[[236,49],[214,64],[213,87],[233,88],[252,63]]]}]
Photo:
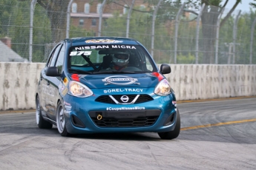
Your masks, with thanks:
[{"label": "front side door of the blue car, behind the black left-hand mirror", "polygon": [[[56,58],[54,58],[55,61],[52,66],[57,67],[59,73],[62,73],[62,66],[65,57],[65,44],[61,44],[54,55],[56,55]],[[49,108],[49,116],[52,120],[56,120],[57,102],[59,100],[59,84],[61,83],[61,80],[60,76],[47,78],[49,89],[47,107]]]}]

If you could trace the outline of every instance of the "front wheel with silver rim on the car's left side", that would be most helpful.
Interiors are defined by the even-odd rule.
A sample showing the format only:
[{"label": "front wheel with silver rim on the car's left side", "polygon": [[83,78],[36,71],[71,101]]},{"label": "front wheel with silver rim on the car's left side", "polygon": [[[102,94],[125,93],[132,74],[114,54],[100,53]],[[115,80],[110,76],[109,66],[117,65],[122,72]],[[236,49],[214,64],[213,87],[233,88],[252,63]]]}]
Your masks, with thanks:
[{"label": "front wheel with silver rim on the car's left side", "polygon": [[70,133],[68,133],[66,129],[64,111],[63,111],[63,106],[61,102],[59,102],[57,106],[56,123],[57,123],[57,128],[60,135],[64,137],[73,136]]}]

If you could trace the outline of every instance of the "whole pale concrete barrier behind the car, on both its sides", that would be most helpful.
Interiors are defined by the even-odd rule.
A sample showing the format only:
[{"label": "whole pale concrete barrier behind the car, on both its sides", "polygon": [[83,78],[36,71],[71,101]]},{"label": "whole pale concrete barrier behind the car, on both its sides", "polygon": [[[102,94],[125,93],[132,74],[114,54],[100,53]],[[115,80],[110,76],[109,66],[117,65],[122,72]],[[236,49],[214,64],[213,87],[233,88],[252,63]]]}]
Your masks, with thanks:
[{"label": "whole pale concrete barrier behind the car, on both its sides", "polygon": [[[42,63],[0,63],[0,110],[35,109]],[[256,95],[256,65],[171,64],[177,101]]]}]

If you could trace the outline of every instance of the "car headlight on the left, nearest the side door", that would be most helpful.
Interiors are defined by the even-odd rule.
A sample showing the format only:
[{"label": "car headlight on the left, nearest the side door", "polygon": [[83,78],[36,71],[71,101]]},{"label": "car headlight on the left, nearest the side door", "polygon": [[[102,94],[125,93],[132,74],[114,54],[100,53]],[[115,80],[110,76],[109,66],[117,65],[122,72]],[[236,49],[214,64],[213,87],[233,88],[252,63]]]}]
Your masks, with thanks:
[{"label": "car headlight on the left, nearest the side door", "polygon": [[81,84],[77,81],[70,81],[68,94],[78,98],[87,98],[93,95],[93,92],[88,86],[85,86],[85,84]]}]

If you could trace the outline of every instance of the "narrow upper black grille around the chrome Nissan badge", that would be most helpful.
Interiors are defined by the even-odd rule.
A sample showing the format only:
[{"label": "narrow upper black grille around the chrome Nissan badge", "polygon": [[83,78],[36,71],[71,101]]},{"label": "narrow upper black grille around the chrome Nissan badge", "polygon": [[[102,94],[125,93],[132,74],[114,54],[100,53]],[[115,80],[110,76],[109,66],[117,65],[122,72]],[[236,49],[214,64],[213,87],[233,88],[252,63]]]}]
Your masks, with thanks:
[{"label": "narrow upper black grille around the chrome Nissan badge", "polygon": [[[119,103],[124,103],[121,101],[121,97],[122,95],[112,95],[116,101],[118,101]],[[137,95],[127,95],[129,100],[127,103],[131,103],[131,101],[134,100],[134,98],[136,98]],[[145,103],[148,101],[153,101],[154,99],[150,96],[150,95],[140,95],[139,98],[137,98],[137,101],[135,101],[135,103]],[[98,98],[96,98],[95,101],[101,102],[101,103],[111,103],[114,104],[115,102],[111,99],[111,97],[109,95],[101,95]]]}]

